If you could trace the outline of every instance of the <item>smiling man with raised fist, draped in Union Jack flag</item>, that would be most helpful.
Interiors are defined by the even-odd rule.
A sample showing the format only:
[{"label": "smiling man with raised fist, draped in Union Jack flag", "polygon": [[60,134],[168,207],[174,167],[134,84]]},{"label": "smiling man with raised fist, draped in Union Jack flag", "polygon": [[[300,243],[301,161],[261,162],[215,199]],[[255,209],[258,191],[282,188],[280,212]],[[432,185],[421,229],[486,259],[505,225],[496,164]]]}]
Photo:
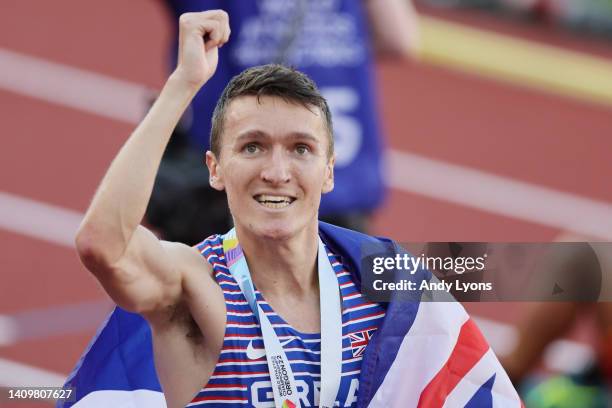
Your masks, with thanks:
[{"label": "smiling man with raised fist, draped in Union Jack flag", "polygon": [[[385,310],[362,297],[356,254],[360,244],[379,241],[318,224],[321,195],[334,187],[332,126],[325,100],[303,74],[253,68],[234,78],[217,104],[206,164],[210,184],[227,193],[235,230],[192,248],[159,241],[139,225],[172,129],[214,74],[229,34],[225,12],[181,16],[177,68],[113,161],[79,229],[84,265],[119,306],[146,318],[157,376],[148,365],[149,332],[117,309],[69,378],[77,405],[161,406],[156,395],[137,397],[158,390],[157,377],[169,407],[399,407],[415,398],[431,406],[447,397],[490,401],[492,394],[517,406],[459,306],[392,302]],[[405,343],[411,327],[417,335]],[[430,329],[434,338],[418,333]],[[418,357],[405,358],[413,350]],[[470,388],[462,391],[458,381],[468,371],[479,382],[467,378]],[[84,376],[96,377],[95,386]],[[134,393],[100,397],[94,390],[102,389]]]}]

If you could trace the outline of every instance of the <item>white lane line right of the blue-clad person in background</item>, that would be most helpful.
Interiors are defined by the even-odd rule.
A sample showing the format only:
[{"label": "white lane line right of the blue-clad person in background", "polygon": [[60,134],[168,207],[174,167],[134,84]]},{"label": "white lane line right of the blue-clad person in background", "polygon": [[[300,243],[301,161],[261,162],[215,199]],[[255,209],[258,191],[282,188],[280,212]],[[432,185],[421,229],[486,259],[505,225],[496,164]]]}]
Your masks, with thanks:
[{"label": "white lane line right of the blue-clad person in background", "polygon": [[429,159],[387,152],[391,187],[548,227],[612,240],[612,204]]}]

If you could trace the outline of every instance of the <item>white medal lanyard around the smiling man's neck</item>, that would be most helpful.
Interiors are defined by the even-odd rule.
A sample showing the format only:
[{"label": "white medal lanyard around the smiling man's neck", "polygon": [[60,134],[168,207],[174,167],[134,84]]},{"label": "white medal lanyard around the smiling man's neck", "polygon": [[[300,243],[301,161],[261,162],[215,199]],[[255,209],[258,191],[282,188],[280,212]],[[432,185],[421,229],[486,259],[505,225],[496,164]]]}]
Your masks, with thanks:
[{"label": "white medal lanyard around the smiling man's neck", "polygon": [[[230,273],[238,282],[261,326],[268,370],[272,380],[274,404],[279,408],[298,407],[300,401],[293,370],[291,370],[289,359],[268,316],[257,303],[249,266],[238,243],[235,229],[230,230],[223,236],[223,252]],[[342,375],[342,311],[338,280],[321,238],[319,238],[317,258],[321,302],[321,392],[319,393],[319,407],[332,408],[340,388]]]}]

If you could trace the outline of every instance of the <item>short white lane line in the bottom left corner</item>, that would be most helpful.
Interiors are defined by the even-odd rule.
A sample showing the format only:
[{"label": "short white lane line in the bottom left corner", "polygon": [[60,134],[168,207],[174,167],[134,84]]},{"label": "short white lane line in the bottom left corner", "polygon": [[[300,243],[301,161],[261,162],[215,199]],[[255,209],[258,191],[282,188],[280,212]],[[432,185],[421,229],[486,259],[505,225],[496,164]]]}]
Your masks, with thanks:
[{"label": "short white lane line in the bottom left corner", "polygon": [[2,387],[61,387],[65,380],[64,374],[0,358]]}]

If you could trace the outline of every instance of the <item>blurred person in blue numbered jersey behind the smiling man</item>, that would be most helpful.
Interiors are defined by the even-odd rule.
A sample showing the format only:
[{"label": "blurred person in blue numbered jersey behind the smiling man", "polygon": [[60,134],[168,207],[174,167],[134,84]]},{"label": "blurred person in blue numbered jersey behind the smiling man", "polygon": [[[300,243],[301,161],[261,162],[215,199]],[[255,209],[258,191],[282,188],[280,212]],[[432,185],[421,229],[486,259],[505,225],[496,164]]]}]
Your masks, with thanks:
[{"label": "blurred person in blue numbered jersey behind the smiling man", "polygon": [[[193,245],[227,230],[231,218],[223,193],[208,185],[202,164],[212,111],[230,78],[267,63],[296,67],[310,76],[334,118],[336,188],[322,200],[321,219],[366,231],[382,203],[384,138],[378,120],[373,54],[416,55],[417,17],[408,0],[166,0],[178,35],[178,16],[223,9],[232,39],[219,58],[219,72],[194,98],[166,152],[147,210],[147,220],[165,239]],[[173,39],[170,66],[176,65]],[[199,197],[199,198],[198,198]],[[206,207],[203,207],[206,203]]]}]

